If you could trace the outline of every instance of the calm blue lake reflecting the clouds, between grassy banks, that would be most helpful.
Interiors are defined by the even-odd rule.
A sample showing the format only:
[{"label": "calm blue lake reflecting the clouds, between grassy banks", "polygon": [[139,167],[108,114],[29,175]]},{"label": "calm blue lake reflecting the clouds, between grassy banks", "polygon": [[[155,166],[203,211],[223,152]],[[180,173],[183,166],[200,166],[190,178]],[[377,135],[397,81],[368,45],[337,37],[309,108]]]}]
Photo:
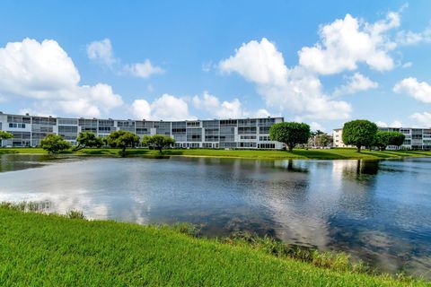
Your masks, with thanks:
[{"label": "calm blue lake reflecting the clouds, between grassy banks", "polygon": [[249,161],[0,155],[0,201],[48,201],[93,219],[194,222],[345,250],[431,277],[431,159]]}]

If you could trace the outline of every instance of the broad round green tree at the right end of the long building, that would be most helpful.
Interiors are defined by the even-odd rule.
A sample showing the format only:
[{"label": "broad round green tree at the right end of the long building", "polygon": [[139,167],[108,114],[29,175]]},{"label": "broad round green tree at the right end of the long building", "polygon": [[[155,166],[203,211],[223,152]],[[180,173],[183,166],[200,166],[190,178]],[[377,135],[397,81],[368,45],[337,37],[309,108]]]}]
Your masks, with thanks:
[{"label": "broad round green tree at the right end of the long building", "polygon": [[310,126],[304,123],[278,123],[269,128],[271,140],[286,143],[289,152],[292,152],[296,144],[307,143],[310,136]]}]

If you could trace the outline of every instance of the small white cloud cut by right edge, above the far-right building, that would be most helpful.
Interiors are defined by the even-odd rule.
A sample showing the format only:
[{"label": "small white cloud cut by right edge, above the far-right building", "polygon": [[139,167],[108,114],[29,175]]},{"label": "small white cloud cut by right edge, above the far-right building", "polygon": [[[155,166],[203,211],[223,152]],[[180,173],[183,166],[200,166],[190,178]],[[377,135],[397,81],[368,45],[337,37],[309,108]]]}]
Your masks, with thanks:
[{"label": "small white cloud cut by right edge, above the far-right building", "polygon": [[418,82],[417,78],[409,77],[396,83],[393,91],[406,93],[422,102],[431,103],[431,85],[427,82]]}]

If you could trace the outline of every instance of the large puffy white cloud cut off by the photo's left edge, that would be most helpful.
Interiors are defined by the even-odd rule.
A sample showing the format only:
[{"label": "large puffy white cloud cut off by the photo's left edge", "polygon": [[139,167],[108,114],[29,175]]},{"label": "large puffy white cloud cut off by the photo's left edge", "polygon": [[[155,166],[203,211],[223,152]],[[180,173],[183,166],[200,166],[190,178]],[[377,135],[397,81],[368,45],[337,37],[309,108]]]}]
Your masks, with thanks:
[{"label": "large puffy white cloud cut off by the photo's left edge", "polygon": [[122,105],[110,85],[79,85],[80,75],[72,59],[57,41],[35,39],[7,43],[0,48],[0,92],[8,99],[39,100],[39,113],[99,117]]}]

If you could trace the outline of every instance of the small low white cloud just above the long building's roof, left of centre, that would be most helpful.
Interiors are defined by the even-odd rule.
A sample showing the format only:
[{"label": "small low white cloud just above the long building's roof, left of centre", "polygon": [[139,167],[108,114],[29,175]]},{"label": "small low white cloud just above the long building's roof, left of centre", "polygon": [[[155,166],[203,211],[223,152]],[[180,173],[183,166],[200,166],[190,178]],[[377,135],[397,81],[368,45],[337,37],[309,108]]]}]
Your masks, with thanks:
[{"label": "small low white cloud just above the long building's roof, left of centre", "polygon": [[189,115],[189,107],[185,100],[163,94],[151,104],[146,100],[135,100],[131,105],[131,112],[136,118],[154,120],[185,120],[194,119]]}]

